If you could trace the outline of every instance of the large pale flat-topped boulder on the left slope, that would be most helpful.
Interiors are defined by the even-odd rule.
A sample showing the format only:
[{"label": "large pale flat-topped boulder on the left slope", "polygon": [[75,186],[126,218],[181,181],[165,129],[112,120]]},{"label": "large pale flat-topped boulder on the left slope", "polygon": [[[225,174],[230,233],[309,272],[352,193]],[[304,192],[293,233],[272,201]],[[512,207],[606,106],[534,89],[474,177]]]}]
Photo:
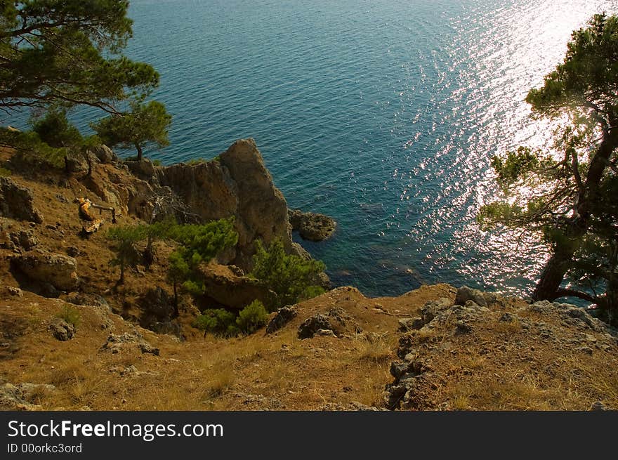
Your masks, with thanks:
[{"label": "large pale flat-topped boulder on the left slope", "polygon": [[13,258],[13,263],[32,280],[48,282],[53,287],[72,291],[77,289],[77,262],[70,256],[63,254],[29,253]]}]

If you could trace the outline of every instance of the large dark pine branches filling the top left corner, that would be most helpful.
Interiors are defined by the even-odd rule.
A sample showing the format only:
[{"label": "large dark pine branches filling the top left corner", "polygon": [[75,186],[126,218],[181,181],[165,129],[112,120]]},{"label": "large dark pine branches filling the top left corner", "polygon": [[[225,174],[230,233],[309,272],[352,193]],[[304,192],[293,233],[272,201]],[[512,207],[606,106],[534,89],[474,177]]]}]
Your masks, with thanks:
[{"label": "large dark pine branches filling the top left corner", "polygon": [[159,74],[120,51],[131,37],[128,0],[0,1],[0,109],[89,105],[117,113]]}]

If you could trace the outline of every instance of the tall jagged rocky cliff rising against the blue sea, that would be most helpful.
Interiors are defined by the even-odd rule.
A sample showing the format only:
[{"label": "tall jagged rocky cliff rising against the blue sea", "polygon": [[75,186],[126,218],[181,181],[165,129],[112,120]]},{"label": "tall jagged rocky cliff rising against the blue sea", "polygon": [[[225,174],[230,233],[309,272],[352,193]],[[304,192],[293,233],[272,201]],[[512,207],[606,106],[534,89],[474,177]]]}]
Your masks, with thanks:
[{"label": "tall jagged rocky cliff rising against the blue sea", "polygon": [[169,215],[186,223],[234,218],[238,244],[220,262],[243,270],[251,268],[257,239],[268,244],[278,237],[289,253],[306,254],[292,242],[287,202],[253,139],[237,140],[209,162],[100,162],[81,183],[101,202],[146,222]]}]

